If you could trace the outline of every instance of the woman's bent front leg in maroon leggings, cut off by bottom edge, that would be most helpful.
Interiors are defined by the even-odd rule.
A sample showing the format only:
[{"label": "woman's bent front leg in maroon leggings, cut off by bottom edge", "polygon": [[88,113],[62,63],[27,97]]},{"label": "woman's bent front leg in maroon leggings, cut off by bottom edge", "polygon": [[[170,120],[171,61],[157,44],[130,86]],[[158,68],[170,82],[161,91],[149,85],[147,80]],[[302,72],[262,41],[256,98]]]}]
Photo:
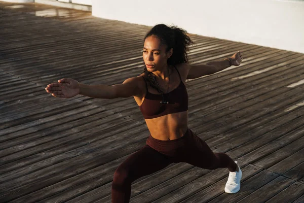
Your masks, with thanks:
[{"label": "woman's bent front leg in maroon leggings, cut off by bottom edge", "polygon": [[129,202],[131,183],[170,164],[165,155],[148,145],[129,156],[116,170],[112,183],[112,203]]}]

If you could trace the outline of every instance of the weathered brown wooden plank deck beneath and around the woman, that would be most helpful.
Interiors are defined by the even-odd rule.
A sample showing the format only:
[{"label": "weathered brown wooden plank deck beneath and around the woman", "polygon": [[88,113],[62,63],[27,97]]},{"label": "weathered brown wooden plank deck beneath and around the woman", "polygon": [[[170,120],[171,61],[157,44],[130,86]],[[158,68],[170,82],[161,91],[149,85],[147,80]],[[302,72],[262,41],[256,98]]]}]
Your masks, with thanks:
[{"label": "weathered brown wooden plank deck beneath and around the woman", "polygon": [[[150,27],[0,2],[0,28],[0,202],[110,202],[117,166],[148,137],[135,101],[60,99],[44,88],[139,75]],[[134,182],[131,202],[304,202],[304,54],[191,37],[193,64],[244,55],[188,81],[189,128],[239,161],[241,191],[224,193],[227,170],[178,163]]]}]

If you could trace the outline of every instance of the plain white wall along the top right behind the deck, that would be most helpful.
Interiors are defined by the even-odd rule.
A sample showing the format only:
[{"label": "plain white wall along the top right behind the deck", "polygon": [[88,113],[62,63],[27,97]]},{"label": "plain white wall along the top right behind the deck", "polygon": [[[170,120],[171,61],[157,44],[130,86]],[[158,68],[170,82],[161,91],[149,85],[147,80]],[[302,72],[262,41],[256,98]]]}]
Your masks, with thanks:
[{"label": "plain white wall along the top right behind the deck", "polygon": [[304,53],[304,1],[92,0],[92,15]]}]

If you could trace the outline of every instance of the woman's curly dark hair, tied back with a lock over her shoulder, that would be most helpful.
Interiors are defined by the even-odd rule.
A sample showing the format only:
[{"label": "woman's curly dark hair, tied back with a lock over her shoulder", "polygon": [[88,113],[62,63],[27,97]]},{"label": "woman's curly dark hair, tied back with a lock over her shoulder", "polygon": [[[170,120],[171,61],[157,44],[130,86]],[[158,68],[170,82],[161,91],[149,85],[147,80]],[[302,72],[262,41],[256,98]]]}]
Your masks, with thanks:
[{"label": "woman's curly dark hair, tied back with a lock over her shoulder", "polygon": [[[156,36],[160,39],[162,45],[167,46],[167,52],[170,49],[173,49],[173,54],[170,58],[168,58],[168,65],[176,65],[178,63],[186,63],[188,62],[187,58],[187,50],[188,46],[193,42],[187,36],[187,31],[181,29],[177,26],[167,26],[165,24],[158,24],[154,26],[144,37],[144,40],[149,36]],[[156,76],[147,71],[146,66],[144,67],[143,73],[147,76],[147,80],[150,85],[158,90],[158,92],[162,92],[160,85],[156,80]]]}]

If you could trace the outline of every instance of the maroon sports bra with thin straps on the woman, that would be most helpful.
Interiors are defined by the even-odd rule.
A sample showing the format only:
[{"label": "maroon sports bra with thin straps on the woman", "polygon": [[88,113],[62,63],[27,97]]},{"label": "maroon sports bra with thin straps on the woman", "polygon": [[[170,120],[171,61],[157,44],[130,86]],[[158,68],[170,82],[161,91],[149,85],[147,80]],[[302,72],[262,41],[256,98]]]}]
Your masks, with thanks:
[{"label": "maroon sports bra with thin straps on the woman", "polygon": [[[180,78],[178,87],[168,93],[163,94],[163,96],[162,94],[152,94],[148,92],[147,82],[145,78],[141,76],[146,84],[146,95],[143,99],[142,104],[139,106],[139,109],[145,119],[157,118],[167,114],[173,114],[188,110],[187,89],[184,83],[181,81],[181,77],[178,71],[177,73]],[[161,101],[163,99],[168,101],[169,104],[162,104]]]}]

